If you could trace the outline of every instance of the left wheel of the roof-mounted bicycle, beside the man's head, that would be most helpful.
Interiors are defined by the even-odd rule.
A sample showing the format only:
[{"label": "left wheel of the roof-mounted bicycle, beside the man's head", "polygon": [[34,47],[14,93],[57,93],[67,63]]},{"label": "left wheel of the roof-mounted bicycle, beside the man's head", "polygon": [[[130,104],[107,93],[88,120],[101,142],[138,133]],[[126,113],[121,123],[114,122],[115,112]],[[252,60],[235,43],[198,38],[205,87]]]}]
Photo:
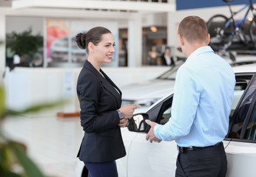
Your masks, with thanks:
[{"label": "left wheel of the roof-mounted bicycle, beside the man's head", "polygon": [[234,38],[234,25],[229,18],[224,15],[214,15],[206,23],[208,32],[210,34],[209,46],[214,50],[226,50],[231,46]]}]

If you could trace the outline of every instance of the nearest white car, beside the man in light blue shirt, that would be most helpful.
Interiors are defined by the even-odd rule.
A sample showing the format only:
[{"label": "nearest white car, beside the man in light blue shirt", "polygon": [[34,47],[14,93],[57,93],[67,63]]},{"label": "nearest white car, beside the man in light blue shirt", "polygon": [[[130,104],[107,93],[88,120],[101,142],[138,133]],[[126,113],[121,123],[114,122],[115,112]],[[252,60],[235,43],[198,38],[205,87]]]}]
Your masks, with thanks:
[{"label": "nearest white car, beside the man in light blue shirt", "polygon": [[[256,174],[256,64],[236,66],[234,100],[230,114],[229,133],[223,144],[228,159],[226,176]],[[149,143],[146,132],[150,119],[164,124],[171,117],[172,96],[169,94],[150,106],[145,113],[135,114],[128,128],[121,128],[127,156],[117,160],[119,177],[175,176],[177,145],[172,142]],[[78,176],[87,176],[83,162],[78,164]]]}]

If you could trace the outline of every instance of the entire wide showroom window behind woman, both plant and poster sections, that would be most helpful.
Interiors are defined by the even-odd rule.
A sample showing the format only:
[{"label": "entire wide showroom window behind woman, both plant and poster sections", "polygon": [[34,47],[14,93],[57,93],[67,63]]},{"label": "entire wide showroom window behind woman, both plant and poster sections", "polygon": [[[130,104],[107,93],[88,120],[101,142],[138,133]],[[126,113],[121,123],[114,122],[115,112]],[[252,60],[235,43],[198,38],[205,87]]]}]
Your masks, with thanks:
[{"label": "entire wide showroom window behind woman, both plant and poster sections", "polygon": [[92,27],[106,27],[115,38],[115,53],[106,66],[118,66],[118,22],[71,18],[6,17],[6,65],[25,67],[81,67],[87,59],[75,36]]}]

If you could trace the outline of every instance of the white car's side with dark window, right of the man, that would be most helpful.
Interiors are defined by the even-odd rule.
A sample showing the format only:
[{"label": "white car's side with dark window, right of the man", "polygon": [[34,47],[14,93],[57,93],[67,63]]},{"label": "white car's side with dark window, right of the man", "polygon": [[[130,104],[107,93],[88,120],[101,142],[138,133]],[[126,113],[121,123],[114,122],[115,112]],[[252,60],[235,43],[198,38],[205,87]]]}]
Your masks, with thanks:
[{"label": "white car's side with dark window, right of the man", "polygon": [[[256,77],[237,74],[235,93],[242,91],[238,105],[230,119],[226,147],[228,172],[226,176],[255,176],[256,168]],[[236,99],[234,97],[234,99]],[[253,175],[254,174],[254,175]]]}]

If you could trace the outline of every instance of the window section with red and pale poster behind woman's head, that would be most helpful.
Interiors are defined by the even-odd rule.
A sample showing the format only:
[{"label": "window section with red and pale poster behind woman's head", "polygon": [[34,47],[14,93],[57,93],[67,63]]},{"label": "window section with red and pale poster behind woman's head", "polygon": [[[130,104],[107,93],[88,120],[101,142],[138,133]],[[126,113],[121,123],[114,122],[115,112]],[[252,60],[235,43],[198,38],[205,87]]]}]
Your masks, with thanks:
[{"label": "window section with red and pale poster behind woman's head", "polygon": [[[85,49],[80,49],[75,36],[86,33],[92,27],[107,27],[115,38],[118,46],[118,24],[116,21],[88,21],[75,19],[47,19],[46,20],[46,60],[49,67],[81,67],[87,59]],[[118,50],[112,58],[112,66],[118,65]]]}]

